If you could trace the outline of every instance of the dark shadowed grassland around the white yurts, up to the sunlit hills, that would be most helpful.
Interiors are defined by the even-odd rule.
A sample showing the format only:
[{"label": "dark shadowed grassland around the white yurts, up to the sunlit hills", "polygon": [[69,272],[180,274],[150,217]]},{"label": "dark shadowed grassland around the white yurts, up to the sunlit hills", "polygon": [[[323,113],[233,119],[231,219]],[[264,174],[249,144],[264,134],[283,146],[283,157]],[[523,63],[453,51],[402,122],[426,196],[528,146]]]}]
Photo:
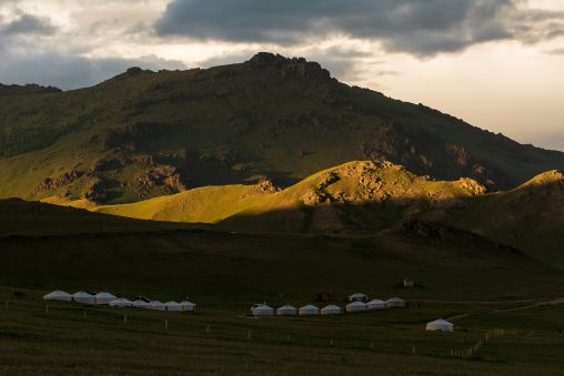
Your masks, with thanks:
[{"label": "dark shadowed grassland around the white yurts, up to the sunlit hills", "polygon": [[[564,296],[564,274],[510,248],[399,232],[230,233],[19,205],[26,210],[10,221],[2,215],[0,226],[2,374],[544,375],[564,369],[564,306],[503,311]],[[405,276],[415,280],[415,288],[401,286]],[[188,297],[199,309],[181,315],[50,302],[47,313],[42,295],[56,288],[108,289],[162,302]],[[321,292],[340,305],[349,294],[364,292],[401,296],[419,307],[341,317],[240,317],[253,303],[301,306]],[[427,322],[441,317],[453,317],[454,333],[425,332]],[[495,328],[507,334],[472,357],[451,356]]]}]

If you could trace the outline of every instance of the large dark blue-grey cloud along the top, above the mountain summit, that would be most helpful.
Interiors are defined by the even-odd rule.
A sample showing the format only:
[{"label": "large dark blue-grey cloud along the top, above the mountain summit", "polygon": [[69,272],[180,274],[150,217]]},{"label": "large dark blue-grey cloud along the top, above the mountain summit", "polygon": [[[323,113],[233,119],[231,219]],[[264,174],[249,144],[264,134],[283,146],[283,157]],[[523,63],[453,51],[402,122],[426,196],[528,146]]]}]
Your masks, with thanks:
[{"label": "large dark blue-grey cloud along the top, above the mountain summit", "polygon": [[501,39],[538,41],[555,32],[554,20],[564,14],[528,9],[521,0],[172,0],[154,30],[279,45],[345,34],[430,55]]}]

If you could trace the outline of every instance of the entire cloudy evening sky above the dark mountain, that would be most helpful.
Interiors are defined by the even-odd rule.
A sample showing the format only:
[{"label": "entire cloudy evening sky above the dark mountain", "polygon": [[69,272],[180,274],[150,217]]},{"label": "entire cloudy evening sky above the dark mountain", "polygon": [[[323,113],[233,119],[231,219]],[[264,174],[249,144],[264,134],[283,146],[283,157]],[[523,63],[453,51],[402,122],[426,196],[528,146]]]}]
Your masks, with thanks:
[{"label": "entire cloudy evening sky above the dark mountain", "polygon": [[564,0],[0,0],[4,84],[71,90],[259,51],[564,151]]}]

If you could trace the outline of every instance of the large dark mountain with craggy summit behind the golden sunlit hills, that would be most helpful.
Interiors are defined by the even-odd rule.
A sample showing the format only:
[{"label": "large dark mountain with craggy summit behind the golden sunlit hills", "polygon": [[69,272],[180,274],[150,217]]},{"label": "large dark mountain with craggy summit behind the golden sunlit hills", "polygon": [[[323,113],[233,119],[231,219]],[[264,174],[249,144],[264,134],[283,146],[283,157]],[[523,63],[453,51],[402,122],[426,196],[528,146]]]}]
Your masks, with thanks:
[{"label": "large dark mountain with craggy summit behind the golden sunlit hills", "polygon": [[271,53],[205,70],[131,68],[92,88],[1,95],[0,105],[0,197],[127,203],[266,177],[289,186],[353,160],[489,190],[564,169],[564,153]]}]

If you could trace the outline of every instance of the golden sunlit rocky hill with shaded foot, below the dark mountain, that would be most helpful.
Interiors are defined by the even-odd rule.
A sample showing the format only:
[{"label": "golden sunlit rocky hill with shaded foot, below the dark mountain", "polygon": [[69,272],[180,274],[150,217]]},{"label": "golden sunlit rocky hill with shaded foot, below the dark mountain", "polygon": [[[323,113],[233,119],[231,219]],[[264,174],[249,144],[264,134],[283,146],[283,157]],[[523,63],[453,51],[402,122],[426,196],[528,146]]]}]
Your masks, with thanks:
[{"label": "golden sunlit rocky hill with shaded foot, below the dark mountain", "polygon": [[97,206],[84,201],[48,202],[142,220],[219,223],[249,231],[382,230],[414,213],[441,212],[483,195],[470,179],[417,176],[389,162],[349,162],[279,190],[255,185],[205,186],[131,204]]}]

